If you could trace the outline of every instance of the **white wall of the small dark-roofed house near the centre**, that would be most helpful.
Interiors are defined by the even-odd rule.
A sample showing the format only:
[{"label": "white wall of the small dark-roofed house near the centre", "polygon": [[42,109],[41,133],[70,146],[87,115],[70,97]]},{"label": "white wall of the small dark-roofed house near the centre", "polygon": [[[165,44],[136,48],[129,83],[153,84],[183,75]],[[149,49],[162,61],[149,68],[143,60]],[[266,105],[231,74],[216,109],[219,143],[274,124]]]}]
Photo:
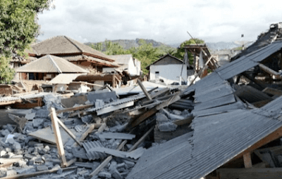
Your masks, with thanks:
[{"label": "white wall of the small dark-roofed house near the centre", "polygon": [[[163,79],[166,84],[172,84],[179,82],[182,64],[151,65],[149,68],[150,80]],[[181,77],[183,81],[187,81],[187,65],[183,66]]]}]

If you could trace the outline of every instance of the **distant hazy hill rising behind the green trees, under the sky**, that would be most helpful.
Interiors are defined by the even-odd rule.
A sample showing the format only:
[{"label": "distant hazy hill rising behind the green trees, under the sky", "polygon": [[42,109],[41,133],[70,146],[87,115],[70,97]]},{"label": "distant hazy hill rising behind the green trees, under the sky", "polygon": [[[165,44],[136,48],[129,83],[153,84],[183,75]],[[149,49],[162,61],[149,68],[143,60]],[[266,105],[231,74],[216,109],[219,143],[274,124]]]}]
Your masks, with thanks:
[{"label": "distant hazy hill rising behind the green trees, under the sky", "polygon": [[[144,40],[147,42],[147,44],[152,43],[152,45],[154,47],[159,47],[159,46],[171,47],[169,45],[163,44],[163,43],[161,43],[159,41],[154,41],[152,39],[144,39]],[[118,43],[121,46],[123,46],[123,48],[125,50],[127,50],[128,48],[131,48],[131,47],[138,47],[138,46],[140,46],[140,42],[139,41],[140,41],[140,39],[135,39],[135,40],[119,39],[119,40],[112,40],[111,42]],[[100,42],[102,42],[102,44],[104,46],[105,41],[100,41]],[[97,43],[100,43],[100,42],[97,42]],[[85,45],[91,46],[92,44],[97,44],[97,43],[87,42],[87,43],[85,43]]]}]

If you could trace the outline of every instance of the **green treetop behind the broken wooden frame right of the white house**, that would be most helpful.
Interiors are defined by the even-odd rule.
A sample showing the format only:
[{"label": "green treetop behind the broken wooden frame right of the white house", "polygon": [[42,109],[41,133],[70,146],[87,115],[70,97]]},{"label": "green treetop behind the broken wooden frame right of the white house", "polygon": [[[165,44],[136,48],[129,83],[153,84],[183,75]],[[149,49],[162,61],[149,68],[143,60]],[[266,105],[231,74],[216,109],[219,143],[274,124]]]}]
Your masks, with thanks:
[{"label": "green treetop behind the broken wooden frame right of the white house", "polygon": [[[190,44],[204,44],[204,41],[202,39],[190,39],[188,41],[183,41],[183,43],[180,44],[179,48],[177,49],[176,53],[173,53],[173,55],[176,58],[179,58],[180,60],[183,60],[184,55],[185,55],[185,46],[188,46]],[[190,65],[193,64],[193,56],[190,52],[188,52],[188,58],[189,58],[189,63]]]}]

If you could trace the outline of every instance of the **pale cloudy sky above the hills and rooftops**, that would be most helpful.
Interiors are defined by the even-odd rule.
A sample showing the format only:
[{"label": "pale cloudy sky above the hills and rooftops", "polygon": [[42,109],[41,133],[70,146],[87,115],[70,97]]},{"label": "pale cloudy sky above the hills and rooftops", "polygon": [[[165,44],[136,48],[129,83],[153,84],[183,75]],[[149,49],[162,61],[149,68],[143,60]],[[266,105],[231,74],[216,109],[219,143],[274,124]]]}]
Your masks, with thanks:
[{"label": "pale cloudy sky above the hills and rooftops", "polygon": [[82,43],[105,39],[154,39],[177,44],[195,38],[206,42],[254,41],[271,23],[282,22],[282,1],[250,0],[54,0],[38,15],[44,40],[66,35]]}]

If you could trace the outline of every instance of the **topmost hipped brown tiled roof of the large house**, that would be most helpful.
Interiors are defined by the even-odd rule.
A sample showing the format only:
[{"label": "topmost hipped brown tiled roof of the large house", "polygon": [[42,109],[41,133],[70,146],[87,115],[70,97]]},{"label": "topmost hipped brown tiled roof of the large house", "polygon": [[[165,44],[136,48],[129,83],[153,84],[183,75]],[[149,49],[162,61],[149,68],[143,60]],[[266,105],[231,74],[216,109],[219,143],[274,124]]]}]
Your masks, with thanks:
[{"label": "topmost hipped brown tiled roof of the large house", "polygon": [[[96,51],[90,46],[81,44],[78,41],[66,36],[56,36],[51,39],[33,44],[32,51],[37,55],[63,55],[63,54],[85,54],[102,60],[114,62],[108,55]],[[32,52],[30,53],[32,54]]]}]

